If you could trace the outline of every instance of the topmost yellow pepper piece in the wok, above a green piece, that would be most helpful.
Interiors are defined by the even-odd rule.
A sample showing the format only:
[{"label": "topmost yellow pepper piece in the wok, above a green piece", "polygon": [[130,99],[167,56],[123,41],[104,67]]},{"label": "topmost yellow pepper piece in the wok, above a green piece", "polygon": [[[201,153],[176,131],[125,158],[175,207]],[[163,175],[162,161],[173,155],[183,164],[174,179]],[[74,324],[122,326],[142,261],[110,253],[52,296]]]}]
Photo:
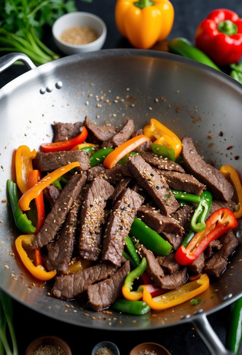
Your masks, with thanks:
[{"label": "topmost yellow pepper piece in the wok, above a green piece", "polygon": [[150,124],[144,126],[144,134],[150,137],[151,140],[154,141],[154,144],[160,144],[174,149],[175,158],[181,153],[181,140],[174,132],[155,118],[151,118]]}]

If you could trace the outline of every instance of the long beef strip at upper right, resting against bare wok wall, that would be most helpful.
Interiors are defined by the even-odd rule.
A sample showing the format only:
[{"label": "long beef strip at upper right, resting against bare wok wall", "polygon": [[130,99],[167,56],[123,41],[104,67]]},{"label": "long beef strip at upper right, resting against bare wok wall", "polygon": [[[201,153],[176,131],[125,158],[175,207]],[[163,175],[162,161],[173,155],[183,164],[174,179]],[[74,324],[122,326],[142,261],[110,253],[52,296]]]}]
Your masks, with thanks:
[{"label": "long beef strip at upper right, resting against bare wok wall", "polygon": [[233,196],[233,186],[214,166],[204,162],[197,153],[191,137],[182,138],[182,158],[186,169],[213,192],[215,198],[229,201]]}]

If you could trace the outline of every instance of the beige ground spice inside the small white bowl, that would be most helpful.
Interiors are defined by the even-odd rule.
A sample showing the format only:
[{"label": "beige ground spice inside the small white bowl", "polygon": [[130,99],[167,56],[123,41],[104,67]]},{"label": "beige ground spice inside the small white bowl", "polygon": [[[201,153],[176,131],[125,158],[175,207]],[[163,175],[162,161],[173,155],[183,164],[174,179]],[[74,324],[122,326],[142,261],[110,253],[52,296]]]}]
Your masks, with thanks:
[{"label": "beige ground spice inside the small white bowl", "polygon": [[70,44],[88,44],[98,39],[98,33],[89,26],[74,26],[67,28],[60,39]]}]

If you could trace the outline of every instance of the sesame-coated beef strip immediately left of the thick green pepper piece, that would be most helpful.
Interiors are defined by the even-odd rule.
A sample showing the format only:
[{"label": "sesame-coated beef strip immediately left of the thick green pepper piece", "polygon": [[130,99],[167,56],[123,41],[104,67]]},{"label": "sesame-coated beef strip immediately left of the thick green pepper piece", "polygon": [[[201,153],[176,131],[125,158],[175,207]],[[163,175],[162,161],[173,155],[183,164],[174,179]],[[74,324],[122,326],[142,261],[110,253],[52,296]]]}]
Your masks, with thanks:
[{"label": "sesame-coated beef strip immediately left of the thick green pepper piece", "polygon": [[109,260],[115,266],[120,266],[124,241],[141,203],[138,193],[129,188],[120,195],[105,230],[102,260]]}]

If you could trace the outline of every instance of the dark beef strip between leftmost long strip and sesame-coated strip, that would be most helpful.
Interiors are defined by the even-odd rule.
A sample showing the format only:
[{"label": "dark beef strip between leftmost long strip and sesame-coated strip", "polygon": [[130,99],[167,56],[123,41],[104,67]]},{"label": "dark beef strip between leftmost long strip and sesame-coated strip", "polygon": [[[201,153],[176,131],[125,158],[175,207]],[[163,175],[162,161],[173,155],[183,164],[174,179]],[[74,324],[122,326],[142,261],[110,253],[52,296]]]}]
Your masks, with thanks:
[{"label": "dark beef strip between leftmost long strip and sesame-coated strip", "polygon": [[67,271],[68,264],[71,261],[73,244],[77,231],[77,218],[79,218],[79,209],[81,196],[74,200],[62,227],[59,238],[47,244],[48,257],[45,258],[45,267],[48,271],[56,270],[61,275]]}]

